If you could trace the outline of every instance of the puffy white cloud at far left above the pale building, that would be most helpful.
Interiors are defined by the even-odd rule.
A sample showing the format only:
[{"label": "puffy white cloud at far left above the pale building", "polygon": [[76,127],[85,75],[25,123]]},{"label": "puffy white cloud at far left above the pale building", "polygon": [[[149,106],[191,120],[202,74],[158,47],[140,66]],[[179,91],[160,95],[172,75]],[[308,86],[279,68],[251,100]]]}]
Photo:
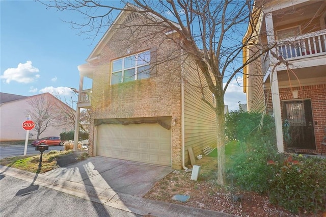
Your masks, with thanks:
[{"label": "puffy white cloud at far left above the pale building", "polygon": [[6,83],[10,83],[12,80],[18,83],[31,83],[35,82],[40,77],[39,69],[32,66],[32,61],[26,61],[26,63],[19,63],[17,68],[8,68],[4,74],[0,76],[1,79],[6,79]]}]

